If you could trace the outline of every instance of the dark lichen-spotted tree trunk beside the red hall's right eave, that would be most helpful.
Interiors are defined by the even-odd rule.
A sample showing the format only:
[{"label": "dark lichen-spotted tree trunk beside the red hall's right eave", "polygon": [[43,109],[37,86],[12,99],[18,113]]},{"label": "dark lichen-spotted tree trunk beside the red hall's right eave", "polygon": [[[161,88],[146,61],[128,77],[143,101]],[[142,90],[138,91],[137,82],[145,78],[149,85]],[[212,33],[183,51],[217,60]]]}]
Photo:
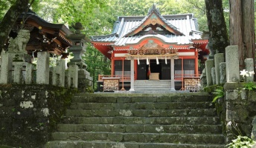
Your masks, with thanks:
[{"label": "dark lichen-spotted tree trunk beside the red hall's right eave", "polygon": [[225,47],[228,46],[228,33],[223,15],[222,0],[205,0],[206,16],[209,27],[209,43],[212,44],[215,53],[225,53]]}]

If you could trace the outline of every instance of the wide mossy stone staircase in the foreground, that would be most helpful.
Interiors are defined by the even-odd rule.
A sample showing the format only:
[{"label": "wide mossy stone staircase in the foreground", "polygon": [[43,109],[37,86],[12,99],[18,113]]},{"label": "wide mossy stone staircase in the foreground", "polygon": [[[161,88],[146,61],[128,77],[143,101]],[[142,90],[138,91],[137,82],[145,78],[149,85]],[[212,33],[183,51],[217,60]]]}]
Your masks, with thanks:
[{"label": "wide mossy stone staircase in the foreground", "polygon": [[47,148],[225,147],[202,92],[77,94]]}]

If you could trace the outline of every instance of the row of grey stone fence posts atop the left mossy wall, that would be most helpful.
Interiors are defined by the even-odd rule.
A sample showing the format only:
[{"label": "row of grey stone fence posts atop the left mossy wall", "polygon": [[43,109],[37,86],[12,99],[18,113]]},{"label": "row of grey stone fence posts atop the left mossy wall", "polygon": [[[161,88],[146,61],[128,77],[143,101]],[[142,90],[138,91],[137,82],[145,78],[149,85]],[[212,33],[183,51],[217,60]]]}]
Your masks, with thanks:
[{"label": "row of grey stone fence posts atop the left mossy wall", "polygon": [[0,84],[51,84],[57,87],[78,88],[78,79],[86,79],[92,84],[89,73],[79,76],[79,67],[69,65],[65,70],[65,60],[57,60],[56,67],[49,66],[49,53],[37,53],[37,64],[27,62],[24,53],[1,53]]}]

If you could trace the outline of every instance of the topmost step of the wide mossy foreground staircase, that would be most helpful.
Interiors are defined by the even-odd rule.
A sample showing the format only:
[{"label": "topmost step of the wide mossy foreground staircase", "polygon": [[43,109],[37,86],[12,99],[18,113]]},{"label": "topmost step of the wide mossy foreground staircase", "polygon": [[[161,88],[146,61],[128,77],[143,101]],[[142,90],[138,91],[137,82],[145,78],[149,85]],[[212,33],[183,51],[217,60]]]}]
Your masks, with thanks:
[{"label": "topmost step of the wide mossy foreground staircase", "polygon": [[202,92],[183,92],[169,94],[139,94],[139,93],[80,93],[74,95],[73,102],[101,103],[134,103],[134,102],[194,102],[212,101],[211,95]]}]

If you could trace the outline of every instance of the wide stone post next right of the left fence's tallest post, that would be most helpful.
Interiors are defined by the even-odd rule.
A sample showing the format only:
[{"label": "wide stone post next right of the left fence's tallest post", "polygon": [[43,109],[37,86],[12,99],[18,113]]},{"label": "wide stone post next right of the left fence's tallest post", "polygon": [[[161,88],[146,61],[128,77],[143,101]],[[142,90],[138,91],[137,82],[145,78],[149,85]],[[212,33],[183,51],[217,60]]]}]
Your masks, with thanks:
[{"label": "wide stone post next right of the left fence's tallest post", "polygon": [[57,60],[56,63],[56,73],[57,77],[57,86],[58,87],[65,87],[65,60],[60,59]]}]

